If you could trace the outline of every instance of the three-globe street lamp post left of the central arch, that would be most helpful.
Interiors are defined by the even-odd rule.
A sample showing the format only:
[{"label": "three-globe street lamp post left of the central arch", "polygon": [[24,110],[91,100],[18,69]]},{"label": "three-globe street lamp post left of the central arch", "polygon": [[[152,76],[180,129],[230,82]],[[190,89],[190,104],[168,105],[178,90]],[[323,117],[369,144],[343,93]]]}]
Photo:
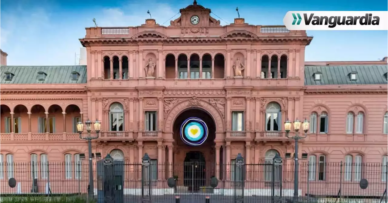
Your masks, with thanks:
[{"label": "three-globe street lamp post left of the central arch", "polygon": [[88,119],[85,121],[87,136],[82,136],[83,133],[83,123],[77,123],[77,131],[80,134],[80,139],[88,141],[88,150],[89,150],[89,190],[88,197],[93,198],[94,196],[94,184],[93,184],[93,163],[92,163],[92,139],[97,139],[99,137],[99,132],[101,128],[101,122],[96,120],[94,123],[94,131],[96,134],[92,135],[92,122]]}]

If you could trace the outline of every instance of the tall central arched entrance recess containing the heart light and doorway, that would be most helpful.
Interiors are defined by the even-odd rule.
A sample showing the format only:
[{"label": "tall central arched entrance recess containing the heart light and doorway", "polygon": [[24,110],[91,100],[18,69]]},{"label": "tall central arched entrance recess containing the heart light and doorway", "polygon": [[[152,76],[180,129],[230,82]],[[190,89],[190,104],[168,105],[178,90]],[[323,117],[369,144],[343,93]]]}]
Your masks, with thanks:
[{"label": "tall central arched entrance recess containing the heart light and doorway", "polygon": [[[208,131],[206,140],[201,143],[196,142],[195,135],[191,136],[192,133],[206,131],[203,127],[197,128],[198,124],[206,124]],[[186,109],[175,119],[173,137],[174,149],[177,150],[174,150],[173,168],[174,175],[178,178],[176,192],[202,192],[206,191],[206,186],[210,185],[210,178],[215,176],[216,167],[215,130],[216,125],[212,116],[200,108]],[[184,138],[181,137],[181,132],[184,132],[182,135]]]}]

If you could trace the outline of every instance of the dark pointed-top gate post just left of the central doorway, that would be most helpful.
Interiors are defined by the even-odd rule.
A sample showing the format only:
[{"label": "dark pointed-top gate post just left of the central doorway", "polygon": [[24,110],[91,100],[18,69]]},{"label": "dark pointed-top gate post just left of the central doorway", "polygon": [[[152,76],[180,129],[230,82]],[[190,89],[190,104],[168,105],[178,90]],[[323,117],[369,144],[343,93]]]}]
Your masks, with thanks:
[{"label": "dark pointed-top gate post just left of the central doorway", "polygon": [[151,202],[151,163],[147,153],[142,158],[142,203]]}]

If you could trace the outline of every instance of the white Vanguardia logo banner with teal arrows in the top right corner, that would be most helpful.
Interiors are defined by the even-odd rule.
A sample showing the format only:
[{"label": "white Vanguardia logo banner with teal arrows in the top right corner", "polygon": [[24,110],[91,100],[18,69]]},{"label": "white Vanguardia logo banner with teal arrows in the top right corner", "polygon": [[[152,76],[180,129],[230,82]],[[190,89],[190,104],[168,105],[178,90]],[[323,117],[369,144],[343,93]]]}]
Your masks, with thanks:
[{"label": "white Vanguardia logo banner with teal arrows in the top right corner", "polygon": [[387,30],[384,11],[289,11],[283,19],[290,30]]}]

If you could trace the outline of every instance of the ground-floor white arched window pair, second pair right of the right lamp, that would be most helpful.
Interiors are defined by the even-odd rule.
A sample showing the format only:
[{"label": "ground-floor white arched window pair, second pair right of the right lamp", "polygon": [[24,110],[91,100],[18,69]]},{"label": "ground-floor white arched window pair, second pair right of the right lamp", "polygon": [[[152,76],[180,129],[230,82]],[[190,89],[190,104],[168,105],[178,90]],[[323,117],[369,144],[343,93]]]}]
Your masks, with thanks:
[{"label": "ground-floor white arched window pair, second pair right of the right lamp", "polygon": [[[353,173],[352,173],[353,172]],[[352,174],[353,177],[352,177]],[[350,154],[345,156],[345,181],[360,181],[362,178],[362,156]]]}]

